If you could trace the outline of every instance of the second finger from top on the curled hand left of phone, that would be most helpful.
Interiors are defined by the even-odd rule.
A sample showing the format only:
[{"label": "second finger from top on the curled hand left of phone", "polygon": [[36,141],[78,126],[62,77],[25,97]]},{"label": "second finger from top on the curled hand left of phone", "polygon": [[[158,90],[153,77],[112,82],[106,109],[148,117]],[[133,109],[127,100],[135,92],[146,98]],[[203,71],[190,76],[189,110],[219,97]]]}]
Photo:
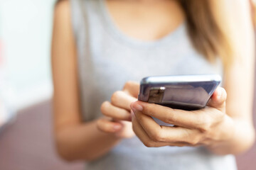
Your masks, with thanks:
[{"label": "second finger from top on the curled hand left of phone", "polygon": [[130,104],[134,101],[137,101],[137,98],[130,96],[124,91],[116,91],[112,94],[111,103],[113,106],[117,106],[119,108],[124,108],[127,111],[130,111]]}]

